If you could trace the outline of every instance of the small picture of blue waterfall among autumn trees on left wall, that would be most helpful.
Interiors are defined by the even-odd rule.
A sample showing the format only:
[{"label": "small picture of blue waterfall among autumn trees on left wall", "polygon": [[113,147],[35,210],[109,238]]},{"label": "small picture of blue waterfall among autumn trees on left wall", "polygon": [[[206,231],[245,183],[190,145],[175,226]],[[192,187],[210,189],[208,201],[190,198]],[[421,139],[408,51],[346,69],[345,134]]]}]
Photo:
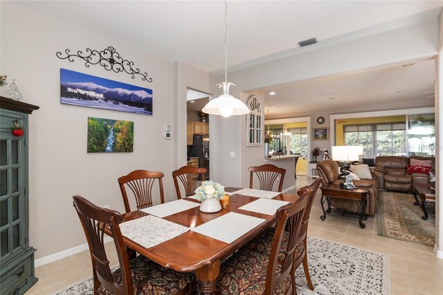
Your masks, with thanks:
[{"label": "small picture of blue waterfall among autumn trees on left wall", "polygon": [[134,122],[88,118],[88,152],[132,152]]}]

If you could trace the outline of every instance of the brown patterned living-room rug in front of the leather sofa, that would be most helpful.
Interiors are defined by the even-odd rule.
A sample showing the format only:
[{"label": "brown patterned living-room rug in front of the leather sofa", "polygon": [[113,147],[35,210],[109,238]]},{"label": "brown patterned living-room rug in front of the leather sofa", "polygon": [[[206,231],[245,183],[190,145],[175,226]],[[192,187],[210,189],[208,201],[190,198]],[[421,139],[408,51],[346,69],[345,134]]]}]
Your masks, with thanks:
[{"label": "brown patterned living-room rug in front of the leather sofa", "polygon": [[377,224],[379,235],[433,247],[435,244],[435,211],[422,220],[421,206],[414,206],[414,196],[406,193],[379,193]]}]

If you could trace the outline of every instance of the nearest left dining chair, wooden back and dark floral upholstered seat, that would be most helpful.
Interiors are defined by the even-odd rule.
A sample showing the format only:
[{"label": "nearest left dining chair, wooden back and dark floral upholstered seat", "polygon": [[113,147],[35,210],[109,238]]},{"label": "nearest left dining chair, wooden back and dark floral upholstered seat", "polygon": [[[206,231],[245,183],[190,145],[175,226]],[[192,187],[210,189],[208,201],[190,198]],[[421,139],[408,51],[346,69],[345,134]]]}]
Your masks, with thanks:
[{"label": "nearest left dining chair, wooden back and dark floral upholstered seat", "polygon": [[[194,274],[166,269],[145,256],[128,259],[119,226],[123,222],[120,213],[98,207],[79,195],[73,197],[73,204],[91,253],[93,294],[192,294]],[[105,227],[109,227],[116,246],[116,269],[109,266]]]}]

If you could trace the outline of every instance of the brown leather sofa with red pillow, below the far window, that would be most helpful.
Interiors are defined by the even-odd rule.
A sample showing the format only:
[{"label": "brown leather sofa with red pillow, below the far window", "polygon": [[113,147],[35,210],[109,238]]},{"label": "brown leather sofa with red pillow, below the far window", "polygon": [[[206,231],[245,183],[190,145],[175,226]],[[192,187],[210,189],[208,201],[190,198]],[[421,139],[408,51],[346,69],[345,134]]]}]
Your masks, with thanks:
[{"label": "brown leather sofa with red pillow, below the far window", "polygon": [[381,156],[375,158],[375,168],[373,170],[373,175],[379,183],[379,188],[413,193],[415,184],[428,184],[429,176],[427,174],[408,174],[410,159],[431,160],[432,171],[435,175],[435,157]]}]

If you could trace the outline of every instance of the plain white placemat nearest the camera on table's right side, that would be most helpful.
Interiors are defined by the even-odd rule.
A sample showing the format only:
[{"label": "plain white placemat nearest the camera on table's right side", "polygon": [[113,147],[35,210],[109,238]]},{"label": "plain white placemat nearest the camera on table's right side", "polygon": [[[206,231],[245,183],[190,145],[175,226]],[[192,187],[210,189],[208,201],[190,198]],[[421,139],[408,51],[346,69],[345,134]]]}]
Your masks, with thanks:
[{"label": "plain white placemat nearest the camera on table's right side", "polygon": [[230,212],[215,218],[215,220],[201,224],[192,231],[221,242],[232,243],[265,221],[262,218]]}]

